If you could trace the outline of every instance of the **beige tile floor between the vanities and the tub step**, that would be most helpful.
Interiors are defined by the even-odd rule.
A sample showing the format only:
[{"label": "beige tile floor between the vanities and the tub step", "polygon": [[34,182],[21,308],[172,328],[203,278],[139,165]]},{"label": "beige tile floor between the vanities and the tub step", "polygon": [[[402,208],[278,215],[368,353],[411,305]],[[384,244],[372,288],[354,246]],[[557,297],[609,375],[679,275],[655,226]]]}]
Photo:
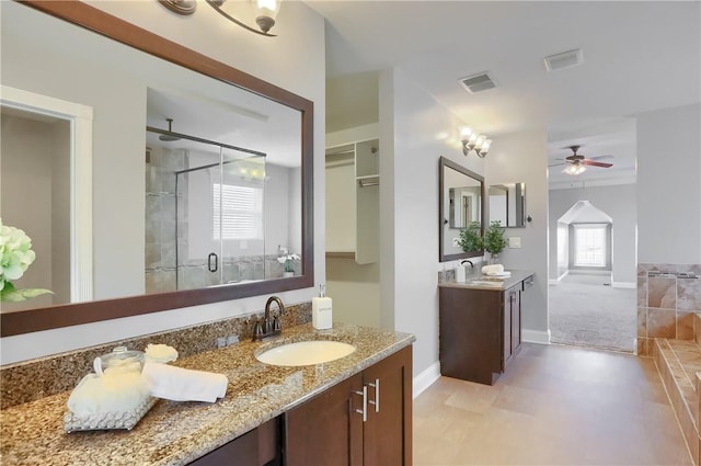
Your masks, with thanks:
[{"label": "beige tile floor between the vanities and the tub step", "polygon": [[691,465],[652,359],[525,343],[494,386],[414,400],[414,465]]}]

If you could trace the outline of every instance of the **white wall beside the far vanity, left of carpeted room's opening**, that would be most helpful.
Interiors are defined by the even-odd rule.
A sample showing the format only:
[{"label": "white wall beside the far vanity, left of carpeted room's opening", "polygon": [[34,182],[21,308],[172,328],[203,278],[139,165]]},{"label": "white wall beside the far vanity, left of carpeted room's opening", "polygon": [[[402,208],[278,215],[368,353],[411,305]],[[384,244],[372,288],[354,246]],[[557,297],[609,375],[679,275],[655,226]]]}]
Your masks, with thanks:
[{"label": "white wall beside the far vanity, left of carpeted room's opening", "polygon": [[486,156],[489,184],[526,183],[526,213],[532,217],[525,228],[507,228],[507,238],[519,237],[520,249],[506,248],[499,262],[507,269],[536,273],[525,296],[521,317],[525,340],[548,342],[548,172],[547,130],[533,129],[493,137]]}]

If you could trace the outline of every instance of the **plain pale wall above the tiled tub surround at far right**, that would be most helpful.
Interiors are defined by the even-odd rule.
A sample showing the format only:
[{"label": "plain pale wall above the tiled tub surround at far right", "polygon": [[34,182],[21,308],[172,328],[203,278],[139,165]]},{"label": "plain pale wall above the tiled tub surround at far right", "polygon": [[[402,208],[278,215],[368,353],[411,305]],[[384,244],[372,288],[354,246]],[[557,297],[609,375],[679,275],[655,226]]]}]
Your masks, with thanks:
[{"label": "plain pale wall above the tiled tub surround at far right", "polygon": [[701,104],[637,115],[637,262],[701,263]]}]

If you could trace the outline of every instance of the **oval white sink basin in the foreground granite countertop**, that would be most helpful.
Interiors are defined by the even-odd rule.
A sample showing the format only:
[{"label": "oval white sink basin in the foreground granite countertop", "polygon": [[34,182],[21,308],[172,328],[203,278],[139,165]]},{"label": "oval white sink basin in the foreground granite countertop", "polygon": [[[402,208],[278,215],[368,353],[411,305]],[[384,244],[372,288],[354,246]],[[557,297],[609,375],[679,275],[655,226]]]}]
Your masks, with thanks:
[{"label": "oval white sink basin in the foreground granite countertop", "polygon": [[272,348],[255,359],[277,366],[306,366],[338,360],[355,351],[355,346],[340,341],[313,340]]}]

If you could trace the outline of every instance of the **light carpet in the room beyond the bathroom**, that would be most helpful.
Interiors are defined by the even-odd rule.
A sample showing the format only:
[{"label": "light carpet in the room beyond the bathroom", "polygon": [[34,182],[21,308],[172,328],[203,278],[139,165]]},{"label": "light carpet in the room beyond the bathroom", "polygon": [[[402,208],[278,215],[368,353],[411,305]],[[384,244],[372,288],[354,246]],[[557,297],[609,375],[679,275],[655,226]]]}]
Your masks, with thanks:
[{"label": "light carpet in the room beyond the bathroom", "polygon": [[608,275],[568,274],[549,287],[553,343],[633,352],[635,289],[613,288]]}]

